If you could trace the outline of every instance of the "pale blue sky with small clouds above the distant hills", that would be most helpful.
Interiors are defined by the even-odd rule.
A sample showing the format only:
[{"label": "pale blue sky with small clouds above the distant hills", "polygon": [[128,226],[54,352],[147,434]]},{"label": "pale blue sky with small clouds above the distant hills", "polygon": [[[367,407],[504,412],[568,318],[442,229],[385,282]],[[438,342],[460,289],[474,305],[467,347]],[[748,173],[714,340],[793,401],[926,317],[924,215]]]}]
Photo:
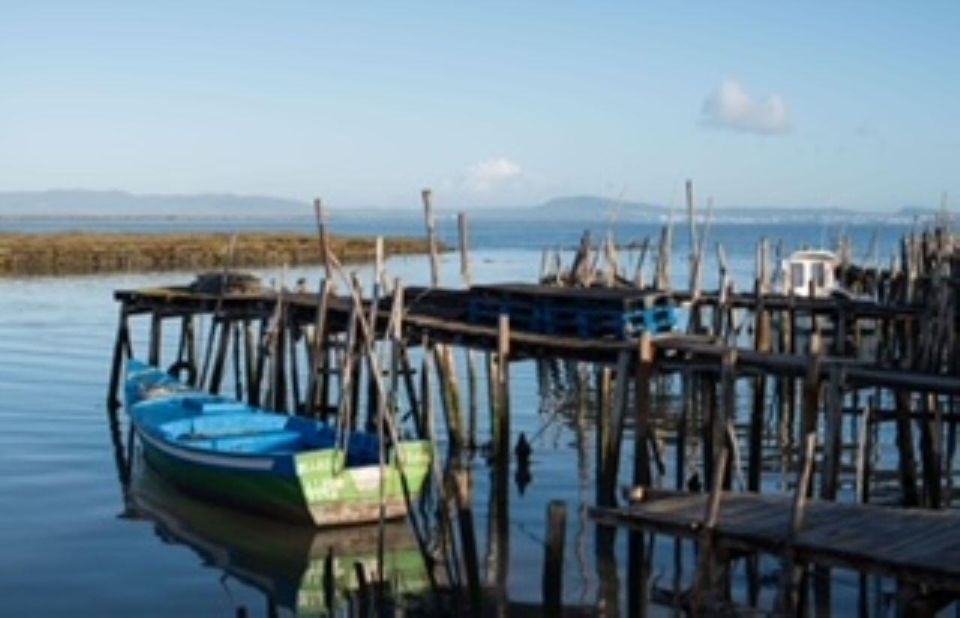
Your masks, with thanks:
[{"label": "pale blue sky with small clouds above the distant hills", "polygon": [[[960,3],[0,0],[0,191],[960,199]],[[949,198],[953,204],[953,197]]]}]

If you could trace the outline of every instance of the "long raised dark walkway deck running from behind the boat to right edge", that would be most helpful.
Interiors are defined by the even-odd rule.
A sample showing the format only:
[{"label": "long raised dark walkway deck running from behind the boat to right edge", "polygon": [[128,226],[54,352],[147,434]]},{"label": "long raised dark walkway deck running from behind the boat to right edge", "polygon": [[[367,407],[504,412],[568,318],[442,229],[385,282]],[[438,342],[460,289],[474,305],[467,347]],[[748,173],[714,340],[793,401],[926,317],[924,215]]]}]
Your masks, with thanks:
[{"label": "long raised dark walkway deck running from behind the boat to right edge", "polygon": [[[593,289],[581,289],[579,292],[587,296],[592,296],[594,293],[610,294],[609,291]],[[572,292],[566,289],[561,293],[569,295]],[[620,292],[614,295],[623,296]],[[227,294],[221,297],[185,287],[119,290],[114,296],[123,304],[128,315],[150,313],[162,317],[175,317],[220,313],[229,315],[231,319],[269,317],[275,311],[279,298],[275,292]],[[497,327],[472,324],[467,321],[467,304],[470,298],[472,298],[470,290],[406,289],[404,337],[414,343],[427,337],[435,343],[495,351],[498,338]],[[314,323],[318,307],[316,294],[286,293],[283,299],[288,314],[294,322],[301,325]],[[827,299],[806,300],[820,302]],[[387,326],[390,303],[389,297],[380,301],[380,309],[377,312],[378,332]],[[352,307],[353,301],[349,297],[331,297],[327,307],[329,327],[335,331],[345,329],[349,323]],[[511,360],[557,358],[614,364],[622,352],[635,355],[639,347],[635,340],[545,335],[517,328],[511,328],[509,336]],[[652,343],[657,353],[656,366],[660,372],[680,371],[685,367],[719,371],[720,360],[726,350],[716,338],[682,333],[655,336]],[[850,384],[880,385],[886,388],[960,395],[960,378],[878,367],[875,364],[849,358],[824,356],[819,364],[819,375],[828,377],[831,368],[837,365],[843,366],[846,379]],[[759,352],[751,348],[737,349],[738,372],[803,377],[809,370],[810,357],[806,354]]]}]

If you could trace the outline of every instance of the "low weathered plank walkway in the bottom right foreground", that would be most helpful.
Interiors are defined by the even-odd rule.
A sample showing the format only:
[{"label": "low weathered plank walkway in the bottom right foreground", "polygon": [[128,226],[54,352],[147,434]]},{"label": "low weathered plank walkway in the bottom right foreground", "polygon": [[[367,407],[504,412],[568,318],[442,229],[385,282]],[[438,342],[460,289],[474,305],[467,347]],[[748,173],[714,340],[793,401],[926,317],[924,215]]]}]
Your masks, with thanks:
[{"label": "low weathered plank walkway in the bottom right foreground", "polygon": [[[600,524],[699,538],[708,494],[664,492],[625,508],[594,508]],[[722,546],[895,577],[960,594],[960,513],[811,501],[790,537],[792,499],[721,494],[714,538]]]}]

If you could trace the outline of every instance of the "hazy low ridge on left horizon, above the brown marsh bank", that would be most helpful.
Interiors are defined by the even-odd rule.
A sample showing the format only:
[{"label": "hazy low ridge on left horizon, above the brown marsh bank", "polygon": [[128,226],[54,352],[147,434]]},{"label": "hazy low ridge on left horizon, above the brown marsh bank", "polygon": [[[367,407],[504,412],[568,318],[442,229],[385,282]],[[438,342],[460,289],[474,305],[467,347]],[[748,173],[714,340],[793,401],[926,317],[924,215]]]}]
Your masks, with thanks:
[{"label": "hazy low ridge on left horizon, above the brown marsh bank", "polygon": [[305,202],[251,195],[141,195],[69,189],[0,192],[0,216],[10,217],[274,217],[310,212]]}]

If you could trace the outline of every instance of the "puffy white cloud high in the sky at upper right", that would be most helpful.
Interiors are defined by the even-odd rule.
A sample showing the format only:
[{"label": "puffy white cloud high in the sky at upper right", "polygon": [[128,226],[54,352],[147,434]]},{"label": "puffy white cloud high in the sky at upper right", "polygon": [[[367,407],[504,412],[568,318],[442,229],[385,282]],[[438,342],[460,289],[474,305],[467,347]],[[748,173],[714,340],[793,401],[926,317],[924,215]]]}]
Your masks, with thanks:
[{"label": "puffy white cloud high in the sky at upper right", "polygon": [[787,102],[779,94],[755,98],[739,82],[724,81],[703,101],[703,122],[734,131],[774,135],[790,130]]}]

